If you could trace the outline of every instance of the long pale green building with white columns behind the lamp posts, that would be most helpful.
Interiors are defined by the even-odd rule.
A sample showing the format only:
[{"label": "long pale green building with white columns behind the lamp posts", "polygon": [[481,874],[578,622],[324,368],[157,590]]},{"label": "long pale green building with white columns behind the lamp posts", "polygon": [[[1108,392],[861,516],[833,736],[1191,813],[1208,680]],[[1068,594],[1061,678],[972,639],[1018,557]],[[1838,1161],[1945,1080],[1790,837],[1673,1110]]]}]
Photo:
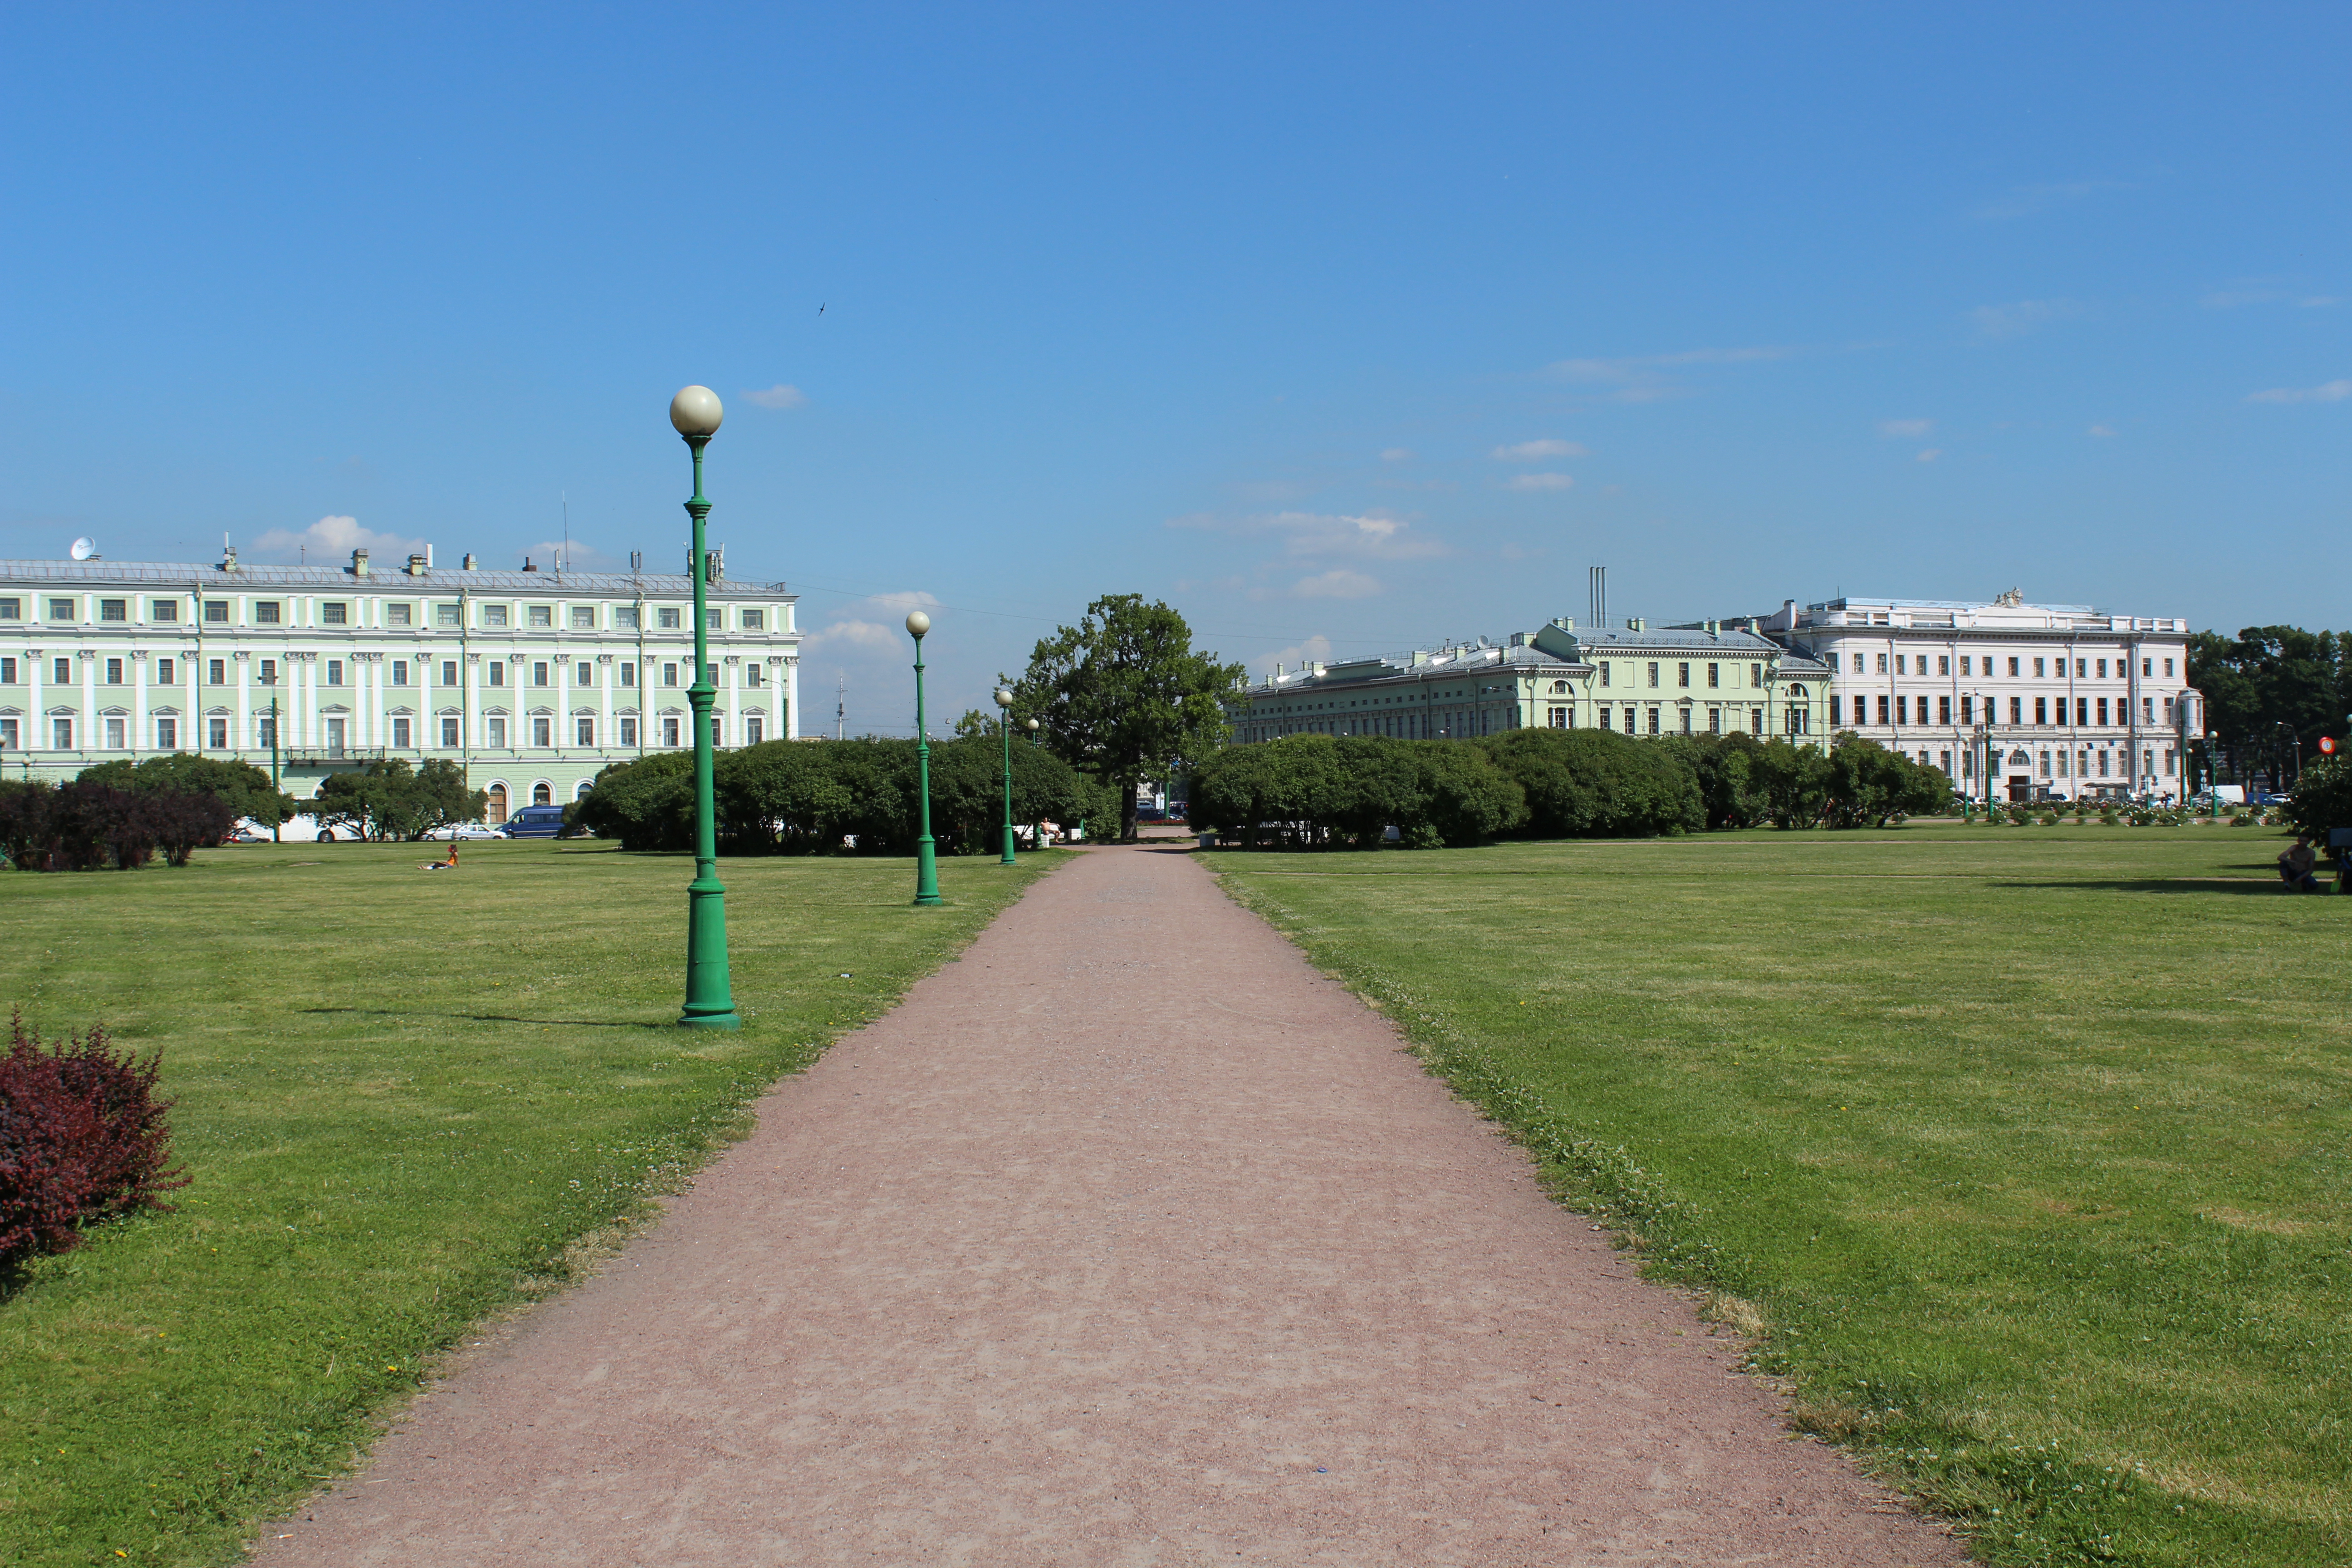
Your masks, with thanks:
[{"label": "long pale green building with white columns behind the lamp posts", "polygon": [[[800,632],[783,583],[708,583],[720,745],[790,738]],[[0,766],[71,778],[200,752],[275,764],[306,799],[339,769],[445,757],[489,820],[694,745],[687,576],[0,562]]]}]

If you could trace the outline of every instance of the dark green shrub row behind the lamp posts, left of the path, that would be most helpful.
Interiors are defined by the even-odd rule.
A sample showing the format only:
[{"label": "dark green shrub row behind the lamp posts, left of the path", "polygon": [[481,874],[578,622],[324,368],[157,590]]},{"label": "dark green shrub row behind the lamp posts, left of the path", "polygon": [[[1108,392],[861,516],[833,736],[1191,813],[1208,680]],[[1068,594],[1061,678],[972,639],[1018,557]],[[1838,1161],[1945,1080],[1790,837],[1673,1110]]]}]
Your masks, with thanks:
[{"label": "dark green shrub row behind the lamp posts, left of the path", "polygon": [[[1011,750],[1014,823],[1117,823],[1117,797],[1061,757]],[[906,856],[922,835],[913,741],[767,741],[713,766],[720,851]],[[623,849],[694,846],[694,752],[619,762],[564,809]],[[993,738],[931,743],[931,837],[938,853],[995,853],[1004,832],[1004,752]]]}]

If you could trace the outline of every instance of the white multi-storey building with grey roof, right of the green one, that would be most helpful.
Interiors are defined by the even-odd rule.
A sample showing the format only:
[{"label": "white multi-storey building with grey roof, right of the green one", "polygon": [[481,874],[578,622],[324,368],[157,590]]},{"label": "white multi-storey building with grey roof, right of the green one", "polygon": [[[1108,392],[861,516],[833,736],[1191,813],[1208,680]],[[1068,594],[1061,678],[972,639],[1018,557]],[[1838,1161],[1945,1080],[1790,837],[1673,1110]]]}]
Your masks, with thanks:
[{"label": "white multi-storey building with grey roof, right of the green one", "polygon": [[1830,599],[1745,625],[1832,670],[1830,729],[1940,766],[1978,799],[2180,795],[2204,729],[2190,623],[2089,604]]}]

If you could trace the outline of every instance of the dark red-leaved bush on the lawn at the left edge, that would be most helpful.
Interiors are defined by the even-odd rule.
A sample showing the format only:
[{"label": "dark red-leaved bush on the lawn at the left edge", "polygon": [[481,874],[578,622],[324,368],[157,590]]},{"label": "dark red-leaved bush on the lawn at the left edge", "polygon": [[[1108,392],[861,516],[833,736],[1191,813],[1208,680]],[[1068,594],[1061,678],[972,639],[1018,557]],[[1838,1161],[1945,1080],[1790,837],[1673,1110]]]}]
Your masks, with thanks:
[{"label": "dark red-leaved bush on the lawn at the left edge", "polygon": [[160,1194],[188,1185],[167,1168],[160,1063],[115,1051],[99,1025],[42,1044],[14,1013],[0,1056],[0,1267],[80,1246],[82,1225],[169,1208]]}]

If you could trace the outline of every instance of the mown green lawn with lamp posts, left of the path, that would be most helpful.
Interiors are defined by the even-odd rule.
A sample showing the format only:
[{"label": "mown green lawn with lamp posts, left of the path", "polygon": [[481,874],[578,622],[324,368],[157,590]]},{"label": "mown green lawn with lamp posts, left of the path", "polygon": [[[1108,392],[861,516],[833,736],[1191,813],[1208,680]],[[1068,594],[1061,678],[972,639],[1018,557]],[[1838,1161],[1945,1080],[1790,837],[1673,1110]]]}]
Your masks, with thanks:
[{"label": "mown green lawn with lamp posts, left of the path", "polygon": [[[677,1030],[691,860],[263,846],[0,877],[0,1004],[162,1048],[176,1213],[0,1284],[0,1563],[219,1563],[468,1324],[560,1284],[1054,853],[727,860],[739,1034]],[[842,978],[842,973],[851,978]]]}]

